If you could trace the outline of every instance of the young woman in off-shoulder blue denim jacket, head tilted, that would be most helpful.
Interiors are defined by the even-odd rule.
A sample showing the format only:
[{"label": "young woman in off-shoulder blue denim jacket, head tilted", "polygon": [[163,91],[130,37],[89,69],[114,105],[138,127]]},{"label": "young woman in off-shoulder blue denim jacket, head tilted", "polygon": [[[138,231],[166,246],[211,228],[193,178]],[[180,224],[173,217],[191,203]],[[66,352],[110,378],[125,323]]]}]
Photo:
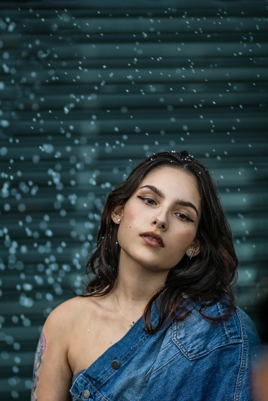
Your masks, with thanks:
[{"label": "young woman in off-shoulder blue denim jacket, head tilted", "polygon": [[205,165],[148,157],[108,196],[85,295],[44,324],[32,400],[252,400],[260,340],[236,305],[237,265]]}]

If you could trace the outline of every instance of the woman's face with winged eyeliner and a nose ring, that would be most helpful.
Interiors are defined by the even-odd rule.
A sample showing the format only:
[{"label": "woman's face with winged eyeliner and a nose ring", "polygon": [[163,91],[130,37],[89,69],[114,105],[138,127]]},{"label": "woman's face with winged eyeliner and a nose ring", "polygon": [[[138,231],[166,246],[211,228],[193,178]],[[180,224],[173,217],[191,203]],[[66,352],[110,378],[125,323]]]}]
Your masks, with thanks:
[{"label": "woman's face with winged eyeliner and a nose ring", "polygon": [[[140,188],[145,185],[158,188],[164,198],[149,187]],[[178,199],[189,202],[189,206],[177,204]],[[190,207],[190,203],[194,207]],[[199,244],[194,239],[201,217],[201,204],[194,176],[172,167],[150,171],[125,207],[115,208],[115,211],[121,215],[117,215],[121,218],[120,223],[117,223],[121,252],[141,265],[158,271],[169,270],[184,254],[190,257],[190,249],[196,247],[193,257],[199,253]],[[163,225],[157,227],[155,221],[158,226]],[[149,245],[141,236],[147,231],[159,234],[164,246]]]}]

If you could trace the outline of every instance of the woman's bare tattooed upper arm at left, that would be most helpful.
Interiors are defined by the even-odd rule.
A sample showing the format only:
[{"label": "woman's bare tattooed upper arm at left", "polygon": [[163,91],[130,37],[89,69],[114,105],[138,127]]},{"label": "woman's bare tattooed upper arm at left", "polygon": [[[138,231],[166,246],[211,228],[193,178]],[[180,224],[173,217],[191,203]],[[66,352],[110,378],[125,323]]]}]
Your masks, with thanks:
[{"label": "woman's bare tattooed upper arm at left", "polygon": [[47,317],[34,359],[31,401],[70,400],[73,373],[67,358],[67,317],[65,302]]}]

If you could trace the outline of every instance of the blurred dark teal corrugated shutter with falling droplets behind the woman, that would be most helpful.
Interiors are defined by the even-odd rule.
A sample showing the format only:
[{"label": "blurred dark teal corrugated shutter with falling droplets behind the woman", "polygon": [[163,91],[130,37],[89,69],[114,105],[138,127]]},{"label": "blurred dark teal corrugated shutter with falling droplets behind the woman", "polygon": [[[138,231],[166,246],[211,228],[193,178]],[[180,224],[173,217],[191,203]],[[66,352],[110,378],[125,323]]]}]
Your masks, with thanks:
[{"label": "blurred dark teal corrugated shutter with falling droplets behind the woman", "polygon": [[267,334],[267,1],[0,4],[0,398],[30,399],[49,313],[82,293],[108,194],[188,150],[219,189],[237,304]]}]

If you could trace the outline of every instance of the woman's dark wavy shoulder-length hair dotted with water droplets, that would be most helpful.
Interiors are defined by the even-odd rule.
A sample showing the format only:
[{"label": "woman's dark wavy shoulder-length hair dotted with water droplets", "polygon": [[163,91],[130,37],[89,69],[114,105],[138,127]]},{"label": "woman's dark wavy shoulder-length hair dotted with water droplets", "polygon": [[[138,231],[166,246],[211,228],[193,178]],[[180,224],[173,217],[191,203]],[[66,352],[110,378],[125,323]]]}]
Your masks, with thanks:
[{"label": "woman's dark wavy shoulder-length hair dotted with water droplets", "polygon": [[[117,242],[119,225],[113,223],[112,211],[117,205],[125,205],[139,182],[150,171],[166,166],[180,169],[196,178],[201,199],[201,217],[195,238],[200,242],[200,252],[192,259],[184,255],[178,264],[170,269],[164,287],[156,291],[146,305],[143,322],[145,331],[150,334],[160,330],[169,317],[172,321],[181,321],[192,313],[185,307],[184,298],[187,298],[194,308],[196,302],[199,303],[199,313],[211,323],[228,319],[236,303],[232,285],[237,280],[238,259],[231,228],[224,216],[220,196],[208,168],[186,150],[161,151],[149,156],[132,170],[123,183],[112,189],[102,212],[96,250],[86,265],[85,274],[89,277],[93,272],[94,277],[87,284],[83,282],[86,285],[85,294],[75,295],[102,296],[112,290],[118,275],[120,256],[120,245]],[[151,307],[156,298],[159,302],[159,321],[153,328]],[[226,306],[224,314],[212,317],[202,313],[203,308],[217,302]]]}]

